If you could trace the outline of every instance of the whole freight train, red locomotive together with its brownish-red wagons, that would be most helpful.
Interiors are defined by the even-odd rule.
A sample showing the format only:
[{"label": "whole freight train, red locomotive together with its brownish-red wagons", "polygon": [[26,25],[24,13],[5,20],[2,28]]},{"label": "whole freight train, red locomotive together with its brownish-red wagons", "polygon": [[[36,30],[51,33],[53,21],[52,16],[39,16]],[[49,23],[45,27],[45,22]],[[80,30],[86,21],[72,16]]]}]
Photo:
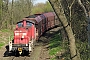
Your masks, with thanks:
[{"label": "whole freight train, red locomotive together with its brownish-red wagons", "polygon": [[14,30],[14,40],[9,42],[9,51],[30,52],[33,49],[34,42],[49,28],[55,26],[55,13],[48,12],[43,14],[34,14],[17,22]]}]

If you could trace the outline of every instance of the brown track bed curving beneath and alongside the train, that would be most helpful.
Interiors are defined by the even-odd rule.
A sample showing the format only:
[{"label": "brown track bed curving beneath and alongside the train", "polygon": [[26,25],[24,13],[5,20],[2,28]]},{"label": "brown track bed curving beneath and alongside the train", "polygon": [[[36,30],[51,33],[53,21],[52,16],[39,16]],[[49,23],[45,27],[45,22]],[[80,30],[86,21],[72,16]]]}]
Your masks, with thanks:
[{"label": "brown track bed curving beneath and alongside the train", "polygon": [[49,51],[47,49],[50,36],[60,29],[54,28],[47,31],[34,47],[33,52],[29,56],[14,56],[12,53],[8,54],[7,45],[0,50],[0,60],[50,60]]}]

